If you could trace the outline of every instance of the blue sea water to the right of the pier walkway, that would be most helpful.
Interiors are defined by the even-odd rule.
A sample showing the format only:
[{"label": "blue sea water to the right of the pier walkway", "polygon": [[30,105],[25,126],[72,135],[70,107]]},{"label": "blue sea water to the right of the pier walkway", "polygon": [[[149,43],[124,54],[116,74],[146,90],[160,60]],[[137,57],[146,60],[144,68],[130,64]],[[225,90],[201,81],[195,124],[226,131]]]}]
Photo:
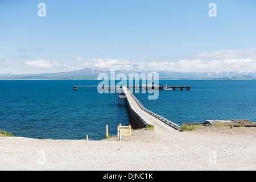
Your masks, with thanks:
[{"label": "blue sea water to the right of the pier walkway", "polygon": [[157,100],[134,94],[148,110],[172,122],[248,119],[256,122],[256,80],[159,80],[162,85],[190,85],[189,91],[159,91]]}]

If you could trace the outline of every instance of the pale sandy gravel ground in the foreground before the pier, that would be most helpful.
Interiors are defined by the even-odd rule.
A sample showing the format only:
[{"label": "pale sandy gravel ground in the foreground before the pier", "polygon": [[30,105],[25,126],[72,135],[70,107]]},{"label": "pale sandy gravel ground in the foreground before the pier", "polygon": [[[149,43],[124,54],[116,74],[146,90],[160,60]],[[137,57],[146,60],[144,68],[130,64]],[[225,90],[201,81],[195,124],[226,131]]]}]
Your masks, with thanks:
[{"label": "pale sandy gravel ground in the foreground before the pier", "polygon": [[255,170],[256,128],[230,127],[168,135],[134,130],[104,140],[0,137],[0,170]]}]

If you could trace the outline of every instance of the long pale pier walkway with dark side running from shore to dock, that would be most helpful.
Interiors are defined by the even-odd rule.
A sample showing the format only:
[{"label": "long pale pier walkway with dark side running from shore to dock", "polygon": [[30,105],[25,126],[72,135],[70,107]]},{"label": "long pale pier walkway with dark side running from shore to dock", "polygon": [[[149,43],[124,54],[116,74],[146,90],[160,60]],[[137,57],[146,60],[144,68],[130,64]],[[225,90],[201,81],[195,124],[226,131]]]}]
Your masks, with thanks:
[{"label": "long pale pier walkway with dark side running from shore to dock", "polygon": [[131,127],[133,129],[139,129],[146,127],[147,125],[159,125],[159,123],[166,123],[170,127],[175,130],[179,129],[179,125],[169,121],[166,118],[161,117],[158,114],[153,113],[150,110],[147,110],[141,102],[130,92],[127,86],[123,86],[123,94],[124,96],[119,96],[120,98],[125,99],[127,111],[129,113]]}]

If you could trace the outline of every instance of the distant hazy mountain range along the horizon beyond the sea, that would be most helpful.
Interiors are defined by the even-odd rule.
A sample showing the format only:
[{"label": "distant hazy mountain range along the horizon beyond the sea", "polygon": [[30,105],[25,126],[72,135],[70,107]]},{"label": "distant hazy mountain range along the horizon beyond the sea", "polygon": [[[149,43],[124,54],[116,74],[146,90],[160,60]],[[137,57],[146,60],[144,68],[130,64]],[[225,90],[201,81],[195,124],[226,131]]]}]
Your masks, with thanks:
[{"label": "distant hazy mountain range along the horizon beyond the sea", "polygon": [[[0,75],[0,79],[94,79],[100,73],[110,76],[110,69],[85,68],[78,71],[60,73],[40,73],[29,75]],[[115,75],[125,73],[127,78],[129,73],[158,73],[159,78],[172,79],[255,79],[256,72],[170,72],[170,71],[124,71],[115,70]]]}]

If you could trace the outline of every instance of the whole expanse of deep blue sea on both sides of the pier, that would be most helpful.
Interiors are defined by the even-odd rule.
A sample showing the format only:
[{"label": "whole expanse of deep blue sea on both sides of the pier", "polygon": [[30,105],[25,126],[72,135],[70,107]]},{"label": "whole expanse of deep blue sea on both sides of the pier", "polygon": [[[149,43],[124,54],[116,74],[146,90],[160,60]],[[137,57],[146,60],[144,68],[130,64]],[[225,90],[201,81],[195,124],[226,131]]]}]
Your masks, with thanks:
[{"label": "whole expanse of deep blue sea on both sides of the pier", "polygon": [[[117,134],[117,125],[129,125],[124,101],[118,94],[100,94],[98,80],[1,80],[0,130],[19,137],[40,139],[90,139]],[[205,119],[248,119],[256,122],[255,80],[159,80],[162,85],[190,85],[190,91],[159,91],[134,95],[148,110],[172,122]]]}]

